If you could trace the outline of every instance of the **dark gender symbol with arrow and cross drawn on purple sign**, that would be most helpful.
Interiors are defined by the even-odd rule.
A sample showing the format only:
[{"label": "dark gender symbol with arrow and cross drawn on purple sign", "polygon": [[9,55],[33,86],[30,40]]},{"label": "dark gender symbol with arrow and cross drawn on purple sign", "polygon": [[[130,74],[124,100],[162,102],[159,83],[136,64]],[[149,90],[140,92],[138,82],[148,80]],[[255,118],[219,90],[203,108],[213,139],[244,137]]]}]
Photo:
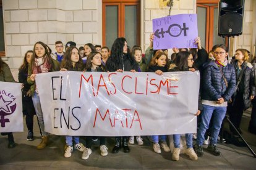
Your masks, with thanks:
[{"label": "dark gender symbol with arrow and cross drawn on purple sign", "polygon": [[[184,36],[187,36],[187,30],[189,30],[188,27],[186,27],[186,23],[183,23],[183,28],[181,28],[181,25],[174,23],[169,26],[168,30],[164,31],[163,28],[161,28],[161,31],[157,29],[155,31],[155,36],[157,38],[164,38],[164,34],[169,33],[170,36],[177,37],[181,35],[181,32],[184,32]],[[161,36],[160,36],[161,35]]]}]

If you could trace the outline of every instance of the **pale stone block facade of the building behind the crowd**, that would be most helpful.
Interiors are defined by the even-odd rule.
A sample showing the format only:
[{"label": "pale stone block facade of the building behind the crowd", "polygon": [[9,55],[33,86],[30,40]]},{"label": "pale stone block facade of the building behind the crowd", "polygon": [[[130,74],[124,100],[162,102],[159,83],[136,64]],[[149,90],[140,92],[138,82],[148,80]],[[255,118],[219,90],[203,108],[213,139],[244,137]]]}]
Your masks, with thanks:
[{"label": "pale stone block facade of the building behind the crowd", "polygon": [[[174,14],[195,14],[197,0],[174,0]],[[169,15],[169,7],[160,8],[160,0],[140,1],[140,45],[149,44],[153,18]],[[244,31],[233,39],[233,49],[242,47],[253,51],[256,30],[256,2],[245,1]],[[102,43],[101,0],[2,0],[6,57],[11,68],[19,68],[23,55],[43,41],[53,51],[54,42]]]}]

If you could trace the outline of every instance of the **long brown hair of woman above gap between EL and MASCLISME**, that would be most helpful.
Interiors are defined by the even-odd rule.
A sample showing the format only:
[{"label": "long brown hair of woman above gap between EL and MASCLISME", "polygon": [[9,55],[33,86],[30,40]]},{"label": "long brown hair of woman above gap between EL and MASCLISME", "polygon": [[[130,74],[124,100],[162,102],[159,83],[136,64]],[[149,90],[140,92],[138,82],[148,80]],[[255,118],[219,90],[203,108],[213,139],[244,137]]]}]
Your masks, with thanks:
[{"label": "long brown hair of woman above gap between EL and MASCLISME", "polygon": [[[80,55],[79,55],[79,61],[75,63],[75,67],[73,67],[73,64],[71,61],[71,55],[72,55],[73,49],[77,49],[77,47],[70,46],[65,52],[63,60],[61,62],[61,68],[66,68],[67,70],[83,71],[84,65]],[[79,51],[79,49],[77,49],[77,51]]]}]

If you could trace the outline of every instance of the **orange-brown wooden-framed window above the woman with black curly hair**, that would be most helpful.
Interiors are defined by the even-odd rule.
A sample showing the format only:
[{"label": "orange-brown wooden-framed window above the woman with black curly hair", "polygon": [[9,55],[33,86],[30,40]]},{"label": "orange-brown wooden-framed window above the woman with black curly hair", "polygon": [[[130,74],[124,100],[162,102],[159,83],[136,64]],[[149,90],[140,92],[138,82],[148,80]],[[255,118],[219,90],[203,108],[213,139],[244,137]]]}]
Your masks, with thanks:
[{"label": "orange-brown wooden-framed window above the woman with black curly hair", "polygon": [[132,47],[140,46],[140,1],[103,0],[103,46],[111,48],[114,40],[124,37]]}]

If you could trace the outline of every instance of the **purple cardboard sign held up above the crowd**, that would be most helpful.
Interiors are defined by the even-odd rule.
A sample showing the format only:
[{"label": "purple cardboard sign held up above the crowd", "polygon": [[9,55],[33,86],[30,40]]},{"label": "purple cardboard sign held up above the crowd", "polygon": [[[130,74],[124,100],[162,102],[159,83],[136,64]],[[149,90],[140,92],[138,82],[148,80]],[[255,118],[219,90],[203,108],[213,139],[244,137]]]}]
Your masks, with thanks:
[{"label": "purple cardboard sign held up above the crowd", "polygon": [[153,19],[153,49],[197,48],[197,14],[179,14]]}]

